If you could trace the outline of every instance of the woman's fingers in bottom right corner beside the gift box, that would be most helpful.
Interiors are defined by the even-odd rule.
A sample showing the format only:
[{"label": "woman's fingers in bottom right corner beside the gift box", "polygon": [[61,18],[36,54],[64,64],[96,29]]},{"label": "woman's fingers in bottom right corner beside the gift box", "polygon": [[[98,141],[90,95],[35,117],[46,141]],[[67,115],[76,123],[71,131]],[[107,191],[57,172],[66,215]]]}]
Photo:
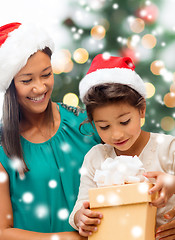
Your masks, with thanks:
[{"label": "woman's fingers in bottom right corner beside the gift box", "polygon": [[[166,219],[172,219],[175,217],[175,208],[167,212],[164,217]],[[175,220],[172,220],[164,225],[161,225],[156,229],[156,240],[173,240],[175,239]]]}]

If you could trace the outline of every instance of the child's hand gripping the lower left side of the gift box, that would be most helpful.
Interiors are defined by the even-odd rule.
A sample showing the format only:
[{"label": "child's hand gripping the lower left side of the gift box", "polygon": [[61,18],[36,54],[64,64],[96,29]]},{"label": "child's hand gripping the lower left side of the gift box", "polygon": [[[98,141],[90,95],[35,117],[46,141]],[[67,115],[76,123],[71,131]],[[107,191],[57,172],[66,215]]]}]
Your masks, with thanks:
[{"label": "child's hand gripping the lower left side of the gift box", "polygon": [[83,206],[75,214],[75,225],[78,227],[79,234],[83,237],[92,235],[93,232],[97,231],[97,225],[100,224],[101,213],[91,211],[89,202],[84,202]]}]

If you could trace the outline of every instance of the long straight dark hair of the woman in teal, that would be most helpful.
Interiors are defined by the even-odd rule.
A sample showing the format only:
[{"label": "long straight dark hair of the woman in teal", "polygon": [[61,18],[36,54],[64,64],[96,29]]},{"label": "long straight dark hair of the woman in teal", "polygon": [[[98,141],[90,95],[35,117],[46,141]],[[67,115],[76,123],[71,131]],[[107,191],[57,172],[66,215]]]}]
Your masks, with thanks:
[{"label": "long straight dark hair of the woman in teal", "polygon": [[[44,48],[42,52],[51,58],[52,51],[48,47]],[[46,109],[46,117],[53,121],[51,100]],[[1,144],[5,154],[11,159],[19,159],[23,168],[22,171],[27,172],[29,168],[24,160],[19,131],[22,118],[23,114],[18,103],[14,80],[12,80],[4,96]]]}]

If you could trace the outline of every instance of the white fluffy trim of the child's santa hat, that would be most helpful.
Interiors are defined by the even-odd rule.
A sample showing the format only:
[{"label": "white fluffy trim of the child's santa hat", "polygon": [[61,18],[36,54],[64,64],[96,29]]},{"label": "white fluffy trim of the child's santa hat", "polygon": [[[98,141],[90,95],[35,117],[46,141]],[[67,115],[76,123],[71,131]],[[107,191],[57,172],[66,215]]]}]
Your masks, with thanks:
[{"label": "white fluffy trim of the child's santa hat", "polygon": [[127,68],[106,68],[89,73],[81,80],[79,85],[81,100],[83,101],[85,94],[91,87],[104,83],[128,85],[146,98],[145,84],[135,71]]}]

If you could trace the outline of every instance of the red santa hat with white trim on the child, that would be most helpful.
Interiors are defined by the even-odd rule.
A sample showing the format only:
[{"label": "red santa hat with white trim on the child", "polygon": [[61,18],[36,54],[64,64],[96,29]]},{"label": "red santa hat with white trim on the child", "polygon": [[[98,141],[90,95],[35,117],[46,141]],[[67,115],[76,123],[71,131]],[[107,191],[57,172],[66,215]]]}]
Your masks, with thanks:
[{"label": "red santa hat with white trim on the child", "polygon": [[143,80],[134,71],[135,66],[129,57],[104,57],[97,55],[89,68],[86,76],[79,85],[80,98],[83,98],[87,91],[99,84],[120,83],[128,85],[146,98],[146,89]]}]

